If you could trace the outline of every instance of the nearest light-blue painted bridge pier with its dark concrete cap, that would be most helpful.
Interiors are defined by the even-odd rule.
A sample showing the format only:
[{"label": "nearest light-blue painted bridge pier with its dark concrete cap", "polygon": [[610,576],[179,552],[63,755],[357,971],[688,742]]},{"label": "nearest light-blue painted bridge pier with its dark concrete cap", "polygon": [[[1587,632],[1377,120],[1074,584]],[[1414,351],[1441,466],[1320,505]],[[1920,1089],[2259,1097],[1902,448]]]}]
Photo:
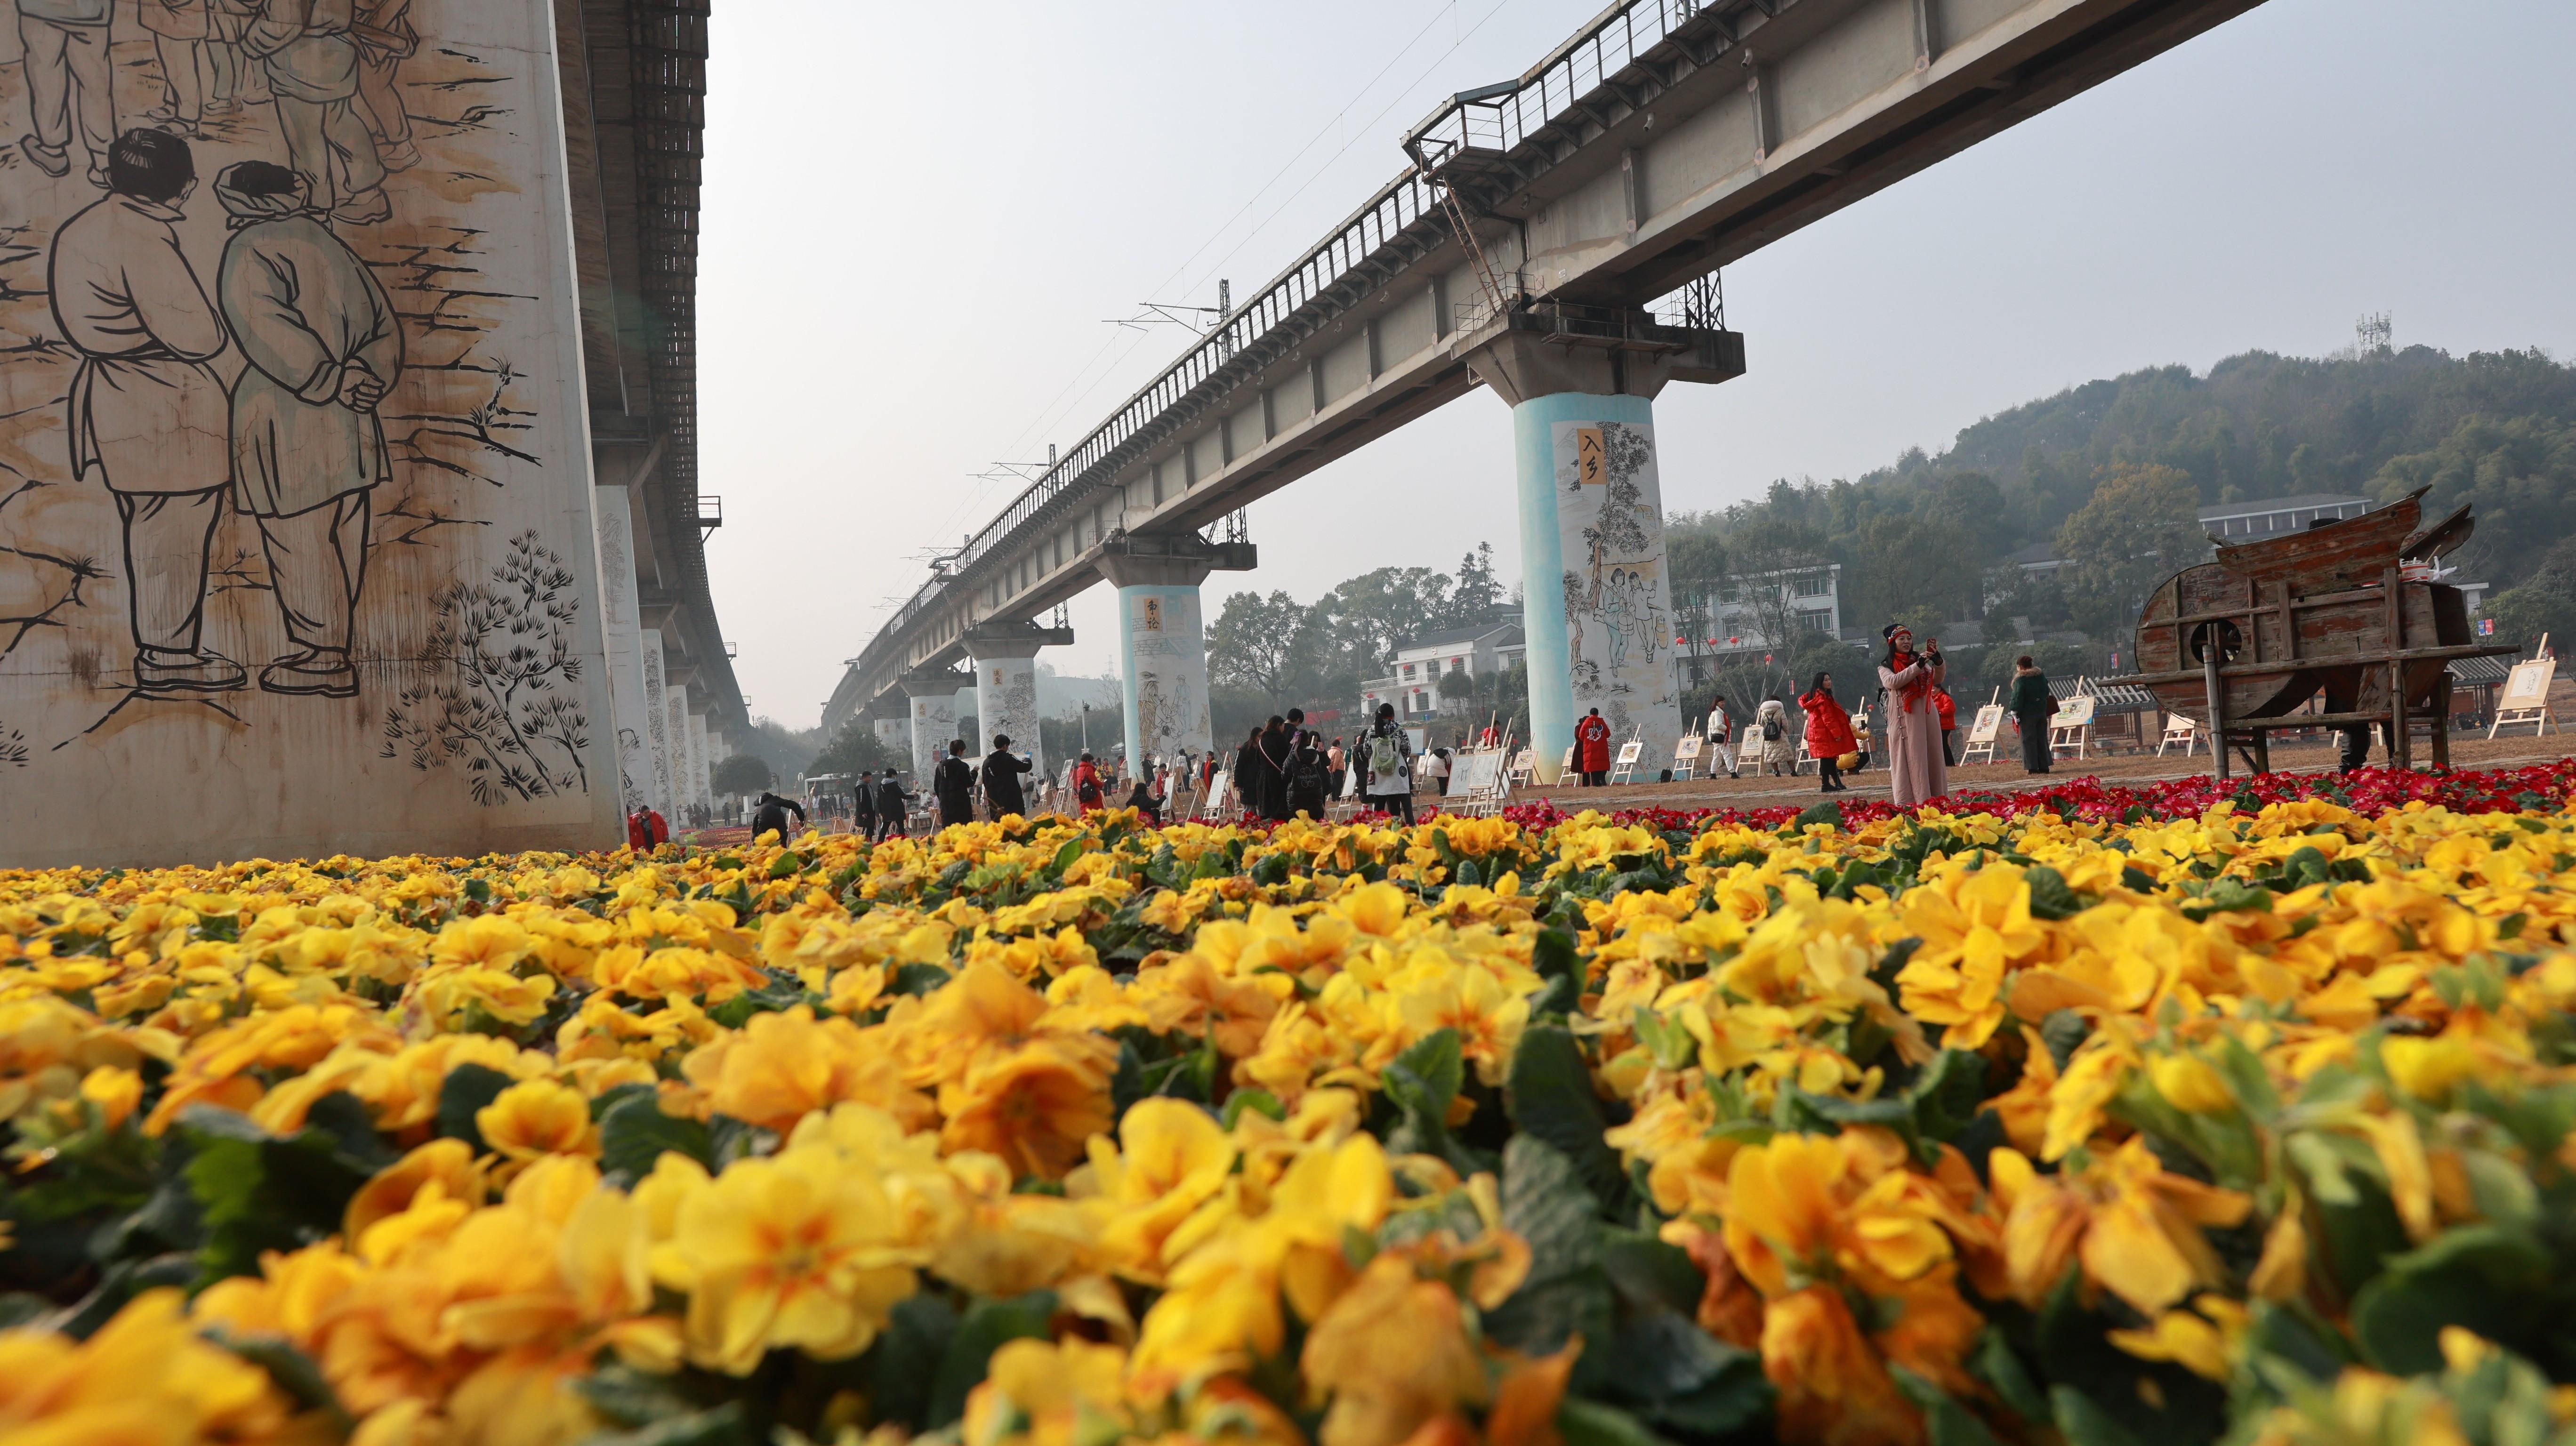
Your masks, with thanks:
[{"label": "nearest light-blue painted bridge pier with its dark concrete cap", "polygon": [[1667,381],[1739,376],[1744,343],[1651,325],[1641,312],[1569,322],[1530,309],[1463,351],[1512,407],[1538,778],[1556,781],[1574,724],[1592,709],[1610,722],[1613,758],[1631,735],[1643,740],[1651,778],[1682,740],[1654,397]]}]

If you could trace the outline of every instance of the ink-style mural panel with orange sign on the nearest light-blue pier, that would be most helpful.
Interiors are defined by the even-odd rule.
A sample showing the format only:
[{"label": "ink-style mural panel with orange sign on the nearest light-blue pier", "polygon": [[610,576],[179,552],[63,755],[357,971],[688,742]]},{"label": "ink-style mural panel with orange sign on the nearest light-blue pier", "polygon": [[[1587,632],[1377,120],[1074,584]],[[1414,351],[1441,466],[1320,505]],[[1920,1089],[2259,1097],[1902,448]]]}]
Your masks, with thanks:
[{"label": "ink-style mural panel with orange sign on the nearest light-blue pier", "polygon": [[1654,423],[1558,420],[1553,441],[1574,714],[1600,709],[1613,740],[1643,737],[1662,768],[1682,740],[1682,704],[1664,644],[1674,613]]}]

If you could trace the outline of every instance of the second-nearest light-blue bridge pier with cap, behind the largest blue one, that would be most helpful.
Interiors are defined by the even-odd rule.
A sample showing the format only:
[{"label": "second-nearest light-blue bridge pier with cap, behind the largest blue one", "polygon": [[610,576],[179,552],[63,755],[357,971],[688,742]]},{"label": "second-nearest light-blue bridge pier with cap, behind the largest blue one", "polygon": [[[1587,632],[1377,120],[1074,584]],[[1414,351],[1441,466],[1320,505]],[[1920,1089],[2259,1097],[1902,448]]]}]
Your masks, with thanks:
[{"label": "second-nearest light-blue bridge pier with cap, behind the largest blue one", "polygon": [[1118,673],[1126,691],[1128,771],[1146,758],[1216,747],[1208,727],[1208,629],[1198,585],[1208,572],[1249,572],[1249,541],[1198,534],[1103,541],[1100,575],[1118,588]]}]

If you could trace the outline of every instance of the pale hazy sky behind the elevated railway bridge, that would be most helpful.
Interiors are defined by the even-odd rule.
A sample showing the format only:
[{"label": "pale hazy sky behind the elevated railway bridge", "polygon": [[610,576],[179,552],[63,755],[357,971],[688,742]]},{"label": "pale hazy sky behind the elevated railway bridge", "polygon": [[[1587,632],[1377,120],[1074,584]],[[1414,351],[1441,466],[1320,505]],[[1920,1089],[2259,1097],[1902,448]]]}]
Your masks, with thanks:
[{"label": "pale hazy sky behind the elevated railway bridge", "polygon": [[[811,727],[925,557],[1185,345],[1139,302],[1267,281],[1401,170],[1435,98],[1597,0],[716,5],[698,278],[716,608]],[[1368,36],[1368,39],[1363,39]],[[1726,271],[1747,376],[1656,402],[1669,510],[1850,477],[2094,376],[2398,345],[2576,351],[2576,5],[2269,0]],[[1510,412],[1471,392],[1252,508],[1242,588],[1520,567]],[[1365,513],[1401,497],[1409,541]],[[1113,593],[1059,673],[1115,670]]]}]

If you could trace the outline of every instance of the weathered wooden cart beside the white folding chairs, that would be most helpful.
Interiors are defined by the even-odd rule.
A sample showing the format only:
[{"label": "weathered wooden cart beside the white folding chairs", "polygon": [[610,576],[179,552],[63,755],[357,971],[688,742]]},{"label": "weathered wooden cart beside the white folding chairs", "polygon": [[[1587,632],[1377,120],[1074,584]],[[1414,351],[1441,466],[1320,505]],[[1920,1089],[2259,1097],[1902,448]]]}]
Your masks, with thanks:
[{"label": "weathered wooden cart beside the white folding chairs", "polygon": [[[2218,776],[2228,750],[2272,768],[2269,735],[2383,724],[2388,760],[2414,766],[2414,722],[2450,766],[2450,660],[2512,655],[2470,639],[2458,588],[2411,577],[2473,528],[2468,508],[2421,526],[2424,490],[2300,534],[2218,544],[2166,577],[2138,616],[2138,683],[2205,722]],[[2215,539],[2213,539],[2215,541]],[[2326,711],[2300,714],[2318,693]]]}]

